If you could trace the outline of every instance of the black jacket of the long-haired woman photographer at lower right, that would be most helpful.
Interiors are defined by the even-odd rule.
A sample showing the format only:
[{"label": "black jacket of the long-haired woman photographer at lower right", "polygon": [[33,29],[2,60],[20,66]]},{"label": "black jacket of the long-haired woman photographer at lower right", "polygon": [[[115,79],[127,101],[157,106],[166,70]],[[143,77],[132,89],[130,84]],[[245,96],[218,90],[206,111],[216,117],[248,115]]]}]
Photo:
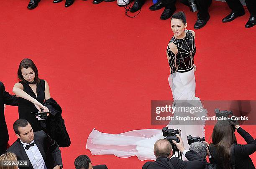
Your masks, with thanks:
[{"label": "black jacket of the long-haired woman photographer at lower right", "polygon": [[[255,169],[253,162],[249,155],[253,154],[256,151],[256,140],[251,137],[251,135],[246,132],[242,127],[237,129],[237,132],[244,138],[247,142],[246,145],[241,144],[233,144],[234,146],[234,153],[235,153],[235,162],[236,162],[236,169]],[[217,164],[218,169],[223,169],[222,167],[222,160],[220,155],[218,155],[217,147],[214,144],[209,145],[209,151],[212,158],[209,158],[210,163]]]}]

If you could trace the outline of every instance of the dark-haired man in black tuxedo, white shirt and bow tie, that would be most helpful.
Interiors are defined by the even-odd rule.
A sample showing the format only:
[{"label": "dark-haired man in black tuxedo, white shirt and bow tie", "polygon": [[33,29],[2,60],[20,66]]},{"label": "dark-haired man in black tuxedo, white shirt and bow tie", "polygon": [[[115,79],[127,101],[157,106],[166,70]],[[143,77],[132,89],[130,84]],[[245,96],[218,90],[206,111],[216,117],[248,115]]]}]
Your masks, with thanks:
[{"label": "dark-haired man in black tuxedo, white shirt and bow tie", "polygon": [[33,132],[26,119],[18,119],[13,124],[17,141],[7,150],[17,156],[17,160],[28,160],[28,167],[20,169],[62,169],[59,145],[44,131]]}]

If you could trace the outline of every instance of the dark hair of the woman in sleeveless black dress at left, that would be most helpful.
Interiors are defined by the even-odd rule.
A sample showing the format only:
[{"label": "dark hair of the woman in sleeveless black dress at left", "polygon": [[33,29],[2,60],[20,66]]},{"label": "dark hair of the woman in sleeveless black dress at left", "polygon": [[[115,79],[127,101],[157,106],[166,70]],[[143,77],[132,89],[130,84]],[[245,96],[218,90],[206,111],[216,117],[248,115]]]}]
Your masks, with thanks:
[{"label": "dark hair of the woman in sleeveless black dress at left", "polygon": [[35,80],[34,81],[36,83],[40,82],[36,65],[34,64],[34,62],[31,59],[28,59],[28,58],[23,59],[20,62],[19,69],[18,69],[18,79],[23,81],[23,82],[26,82],[26,80],[22,76],[21,69],[22,68],[28,69],[28,67],[31,67],[31,69],[35,72]]}]

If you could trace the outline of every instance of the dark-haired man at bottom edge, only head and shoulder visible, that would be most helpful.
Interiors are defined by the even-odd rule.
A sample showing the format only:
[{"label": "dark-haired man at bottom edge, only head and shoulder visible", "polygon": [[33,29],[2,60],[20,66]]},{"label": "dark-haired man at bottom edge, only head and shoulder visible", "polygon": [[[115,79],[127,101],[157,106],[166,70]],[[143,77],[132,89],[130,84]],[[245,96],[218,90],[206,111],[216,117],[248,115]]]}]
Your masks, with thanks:
[{"label": "dark-haired man at bottom edge, only head and shoulder visible", "polygon": [[87,155],[79,155],[74,165],[76,169],[108,169],[106,165],[97,165],[92,167],[92,162]]}]

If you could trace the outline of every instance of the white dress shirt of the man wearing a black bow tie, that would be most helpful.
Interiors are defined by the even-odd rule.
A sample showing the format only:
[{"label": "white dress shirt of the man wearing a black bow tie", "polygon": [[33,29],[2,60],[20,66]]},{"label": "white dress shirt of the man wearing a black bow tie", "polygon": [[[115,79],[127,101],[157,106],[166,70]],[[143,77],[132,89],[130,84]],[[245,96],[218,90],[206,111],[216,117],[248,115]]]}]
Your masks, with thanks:
[{"label": "white dress shirt of the man wearing a black bow tie", "polygon": [[[23,145],[23,148],[25,149],[25,147],[28,145],[27,143],[23,143],[20,140],[21,144]],[[31,143],[33,143],[34,140]],[[25,149],[26,154],[28,155],[28,159],[31,162],[32,166],[34,169],[47,169],[46,168],[46,164],[44,162],[44,159],[42,157],[41,152],[39,151],[38,147],[36,146],[36,144],[34,146],[29,147],[29,149]]]}]

